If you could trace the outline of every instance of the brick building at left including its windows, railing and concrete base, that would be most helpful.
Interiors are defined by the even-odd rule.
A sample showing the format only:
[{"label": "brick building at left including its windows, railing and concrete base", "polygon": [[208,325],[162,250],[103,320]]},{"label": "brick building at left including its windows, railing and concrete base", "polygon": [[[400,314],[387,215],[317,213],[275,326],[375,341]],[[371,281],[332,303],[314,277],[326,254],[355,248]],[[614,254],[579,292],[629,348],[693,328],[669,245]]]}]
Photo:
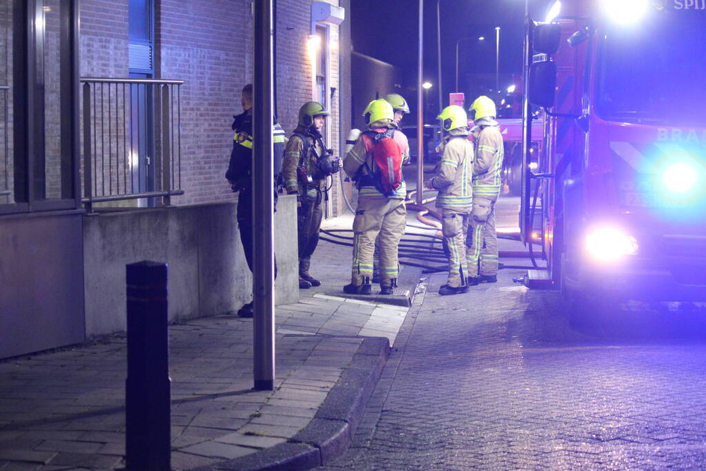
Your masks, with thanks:
[{"label": "brick building at left including its windows, railing and concrete base", "polygon": [[[141,259],[169,264],[172,321],[251,298],[225,170],[232,116],[255,65],[252,4],[0,6],[0,357],[124,329],[125,265]],[[276,4],[280,122],[290,133],[301,104],[325,102],[328,145],[340,154],[351,121],[349,21],[312,16],[329,4],[348,13],[350,0]],[[323,39],[318,49],[310,35]],[[156,209],[90,212],[145,206]],[[336,178],[328,216],[343,207]],[[292,302],[296,200],[278,208],[277,302]]]}]

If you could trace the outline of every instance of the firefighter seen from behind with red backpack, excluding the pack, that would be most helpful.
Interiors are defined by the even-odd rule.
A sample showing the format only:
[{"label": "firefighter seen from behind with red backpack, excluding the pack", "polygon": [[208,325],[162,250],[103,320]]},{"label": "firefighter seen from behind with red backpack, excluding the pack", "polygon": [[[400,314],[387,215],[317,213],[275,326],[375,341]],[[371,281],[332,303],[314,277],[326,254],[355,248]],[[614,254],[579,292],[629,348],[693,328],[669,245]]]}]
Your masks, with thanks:
[{"label": "firefighter seen from behind with red backpack, excluding the pack", "polygon": [[[402,161],[409,159],[407,137],[400,130],[395,130],[395,112],[383,99],[370,102],[364,111],[367,130],[372,133],[385,133],[390,130],[397,143]],[[357,183],[358,207],[353,221],[354,247],[351,283],[343,290],[349,294],[371,294],[373,276],[373,250],[375,240],[380,234],[381,294],[390,295],[397,286],[399,267],[397,264],[397,245],[405,231],[407,209],[405,196],[407,188],[404,181],[390,195],[384,195],[376,185],[371,169],[373,165],[373,147],[371,137],[363,133],[343,160],[343,169]]]}]

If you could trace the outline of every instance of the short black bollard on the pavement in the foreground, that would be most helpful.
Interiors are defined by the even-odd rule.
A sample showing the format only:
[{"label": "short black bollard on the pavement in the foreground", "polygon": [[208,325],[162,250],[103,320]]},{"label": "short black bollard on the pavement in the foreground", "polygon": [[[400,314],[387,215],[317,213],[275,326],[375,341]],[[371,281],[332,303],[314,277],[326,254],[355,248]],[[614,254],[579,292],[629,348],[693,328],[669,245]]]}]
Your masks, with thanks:
[{"label": "short black bollard on the pavement in the foreground", "polygon": [[128,377],[125,381],[127,470],[170,469],[167,264],[126,266]]}]

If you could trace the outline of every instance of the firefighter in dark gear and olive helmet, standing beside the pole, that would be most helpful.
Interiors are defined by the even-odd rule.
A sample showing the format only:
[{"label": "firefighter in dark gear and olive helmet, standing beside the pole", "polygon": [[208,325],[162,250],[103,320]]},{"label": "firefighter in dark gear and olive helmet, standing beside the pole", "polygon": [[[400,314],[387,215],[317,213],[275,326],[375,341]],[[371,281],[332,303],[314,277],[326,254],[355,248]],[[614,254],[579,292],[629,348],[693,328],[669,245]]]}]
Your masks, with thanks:
[{"label": "firefighter in dark gear and olive helmet, standing beside the pole", "polygon": [[299,238],[299,288],[320,286],[309,274],[311,255],[318,245],[323,216],[325,181],[339,164],[323,143],[321,129],[329,113],[321,103],[308,102],[299,109],[299,125],[287,142],[282,178],[289,195],[297,195]]}]

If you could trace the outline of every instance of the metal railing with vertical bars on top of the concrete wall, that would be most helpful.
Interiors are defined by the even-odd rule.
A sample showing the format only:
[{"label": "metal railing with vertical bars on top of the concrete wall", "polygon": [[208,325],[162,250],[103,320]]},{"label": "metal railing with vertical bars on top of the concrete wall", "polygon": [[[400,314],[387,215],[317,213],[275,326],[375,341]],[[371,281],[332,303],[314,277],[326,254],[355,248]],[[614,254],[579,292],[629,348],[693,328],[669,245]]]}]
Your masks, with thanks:
[{"label": "metal railing with vertical bars on top of the concrete wall", "polygon": [[81,78],[83,204],[162,198],[181,190],[183,80]]}]

